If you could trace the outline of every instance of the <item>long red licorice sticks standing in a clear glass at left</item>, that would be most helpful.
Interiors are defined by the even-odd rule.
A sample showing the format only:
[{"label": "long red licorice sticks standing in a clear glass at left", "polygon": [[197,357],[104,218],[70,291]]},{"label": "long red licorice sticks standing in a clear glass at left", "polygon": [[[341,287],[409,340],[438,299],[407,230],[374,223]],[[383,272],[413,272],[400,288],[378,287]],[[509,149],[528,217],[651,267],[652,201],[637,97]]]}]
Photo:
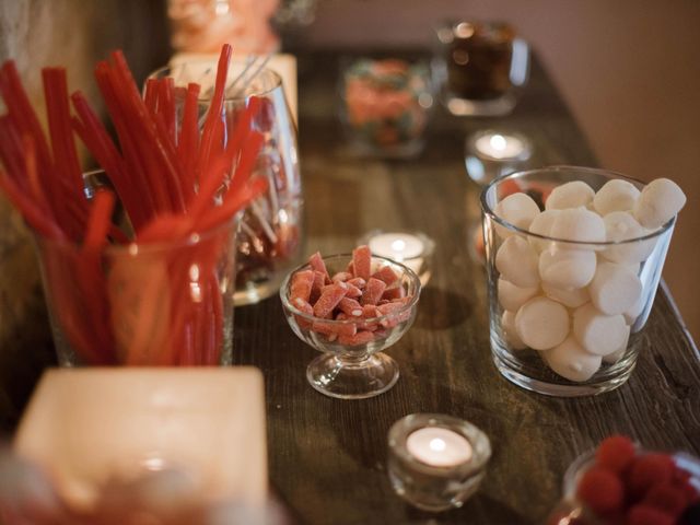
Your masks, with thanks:
[{"label": "long red licorice sticks standing in a clear glass at left", "polygon": [[[120,51],[97,63],[118,145],[83,94],[69,96],[63,68],[43,70],[48,140],[14,63],[0,69],[8,110],[0,116],[0,188],[35,231],[49,313],[80,362],[220,360],[230,334],[233,284],[222,267],[233,264],[231,224],[267,187],[250,176],[262,144],[252,126],[259,101],[252,97],[225,133],[230,58],[225,45],[202,129],[198,84],[151,81],[141,97]],[[103,167],[120,220],[113,222],[112,189],[89,197],[73,132]]]}]

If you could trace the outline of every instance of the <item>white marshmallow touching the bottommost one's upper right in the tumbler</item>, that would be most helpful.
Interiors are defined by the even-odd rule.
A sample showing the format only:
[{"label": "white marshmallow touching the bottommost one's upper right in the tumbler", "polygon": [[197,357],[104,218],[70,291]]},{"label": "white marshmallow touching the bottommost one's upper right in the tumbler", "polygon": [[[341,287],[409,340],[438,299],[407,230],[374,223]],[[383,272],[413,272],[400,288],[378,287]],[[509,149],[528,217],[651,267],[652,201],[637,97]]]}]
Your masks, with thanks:
[{"label": "white marshmallow touching the bottommost one's upper right in the tumbler", "polygon": [[607,355],[622,346],[628,332],[625,317],[605,315],[592,303],[573,313],[573,334],[588,352]]}]

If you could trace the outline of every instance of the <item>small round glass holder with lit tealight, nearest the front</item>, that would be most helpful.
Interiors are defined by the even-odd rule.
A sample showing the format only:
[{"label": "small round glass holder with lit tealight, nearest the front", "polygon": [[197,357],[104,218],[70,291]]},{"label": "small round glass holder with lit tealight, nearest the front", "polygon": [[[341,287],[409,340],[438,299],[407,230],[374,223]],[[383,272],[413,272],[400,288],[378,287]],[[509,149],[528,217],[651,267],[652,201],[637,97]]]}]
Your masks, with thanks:
[{"label": "small round glass holder with lit tealight, nearest the front", "polygon": [[479,488],[490,457],[489,438],[451,416],[412,413],[388,433],[392,487],[425,511],[462,506]]}]

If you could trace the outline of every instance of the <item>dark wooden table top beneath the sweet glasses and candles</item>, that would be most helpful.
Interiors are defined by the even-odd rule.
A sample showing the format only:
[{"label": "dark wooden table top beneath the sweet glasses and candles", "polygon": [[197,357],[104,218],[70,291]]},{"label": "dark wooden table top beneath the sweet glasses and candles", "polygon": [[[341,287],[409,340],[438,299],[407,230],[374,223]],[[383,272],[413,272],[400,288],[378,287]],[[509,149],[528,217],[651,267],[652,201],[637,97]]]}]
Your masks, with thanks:
[{"label": "dark wooden table top beneath the sweet glasses and candles", "polygon": [[[438,108],[420,158],[382,161],[348,154],[336,117],[338,58],[300,60],[307,252],[347,252],[375,228],[423,231],[436,252],[417,320],[388,351],[400,380],[372,399],[331,399],[306,383],[317,353],[292,334],[277,298],[236,310],[235,361],[265,373],[270,478],[298,521],[541,523],[569,463],[608,434],[700,454],[700,357],[665,289],[637,370],[615,392],[550,398],[509,383],[491,361],[485,270],[468,255],[468,230],[480,211],[479,189],[465,173],[465,137],[483,127],[518,130],[535,144],[532,165],[596,164],[542,68],[534,65],[511,116],[458,119]],[[491,439],[487,478],[460,510],[419,512],[392,491],[387,431],[413,412],[467,419]]]}]

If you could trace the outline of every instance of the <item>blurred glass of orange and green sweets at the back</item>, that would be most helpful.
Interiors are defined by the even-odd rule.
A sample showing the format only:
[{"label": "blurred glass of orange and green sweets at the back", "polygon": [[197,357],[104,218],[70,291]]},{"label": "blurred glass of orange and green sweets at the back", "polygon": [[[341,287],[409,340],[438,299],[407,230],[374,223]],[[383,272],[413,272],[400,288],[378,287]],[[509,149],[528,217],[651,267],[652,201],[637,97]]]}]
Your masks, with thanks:
[{"label": "blurred glass of orange and green sweets at the back", "polygon": [[433,105],[427,65],[360,59],[343,69],[340,91],[341,120],[358,154],[409,158],[422,150]]}]

